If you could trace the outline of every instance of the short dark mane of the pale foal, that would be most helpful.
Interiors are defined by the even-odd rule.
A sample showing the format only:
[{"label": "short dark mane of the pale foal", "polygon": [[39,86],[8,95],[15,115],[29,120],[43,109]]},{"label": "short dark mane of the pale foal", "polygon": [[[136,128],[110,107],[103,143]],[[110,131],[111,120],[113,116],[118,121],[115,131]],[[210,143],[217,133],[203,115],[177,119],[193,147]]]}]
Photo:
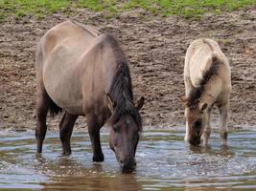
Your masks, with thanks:
[{"label": "short dark mane of the pale foal", "polygon": [[187,106],[190,109],[194,109],[197,107],[200,96],[204,92],[204,87],[209,82],[209,80],[214,76],[218,74],[218,70],[220,68],[220,61],[216,56],[212,57],[212,65],[208,71],[206,71],[201,78],[201,81],[199,82],[199,87],[192,89],[188,96]]}]

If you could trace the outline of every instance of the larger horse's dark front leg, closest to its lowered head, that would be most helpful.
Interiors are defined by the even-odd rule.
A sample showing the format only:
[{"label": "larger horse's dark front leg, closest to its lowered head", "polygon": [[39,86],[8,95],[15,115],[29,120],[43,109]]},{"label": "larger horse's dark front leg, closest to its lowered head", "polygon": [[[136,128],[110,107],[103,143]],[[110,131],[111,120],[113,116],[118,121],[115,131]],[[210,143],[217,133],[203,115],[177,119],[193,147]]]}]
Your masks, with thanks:
[{"label": "larger horse's dark front leg, closest to its lowered head", "polygon": [[104,161],[104,154],[101,146],[100,130],[105,124],[104,119],[99,117],[88,116],[88,132],[91,139],[92,150],[93,150],[93,161]]}]

